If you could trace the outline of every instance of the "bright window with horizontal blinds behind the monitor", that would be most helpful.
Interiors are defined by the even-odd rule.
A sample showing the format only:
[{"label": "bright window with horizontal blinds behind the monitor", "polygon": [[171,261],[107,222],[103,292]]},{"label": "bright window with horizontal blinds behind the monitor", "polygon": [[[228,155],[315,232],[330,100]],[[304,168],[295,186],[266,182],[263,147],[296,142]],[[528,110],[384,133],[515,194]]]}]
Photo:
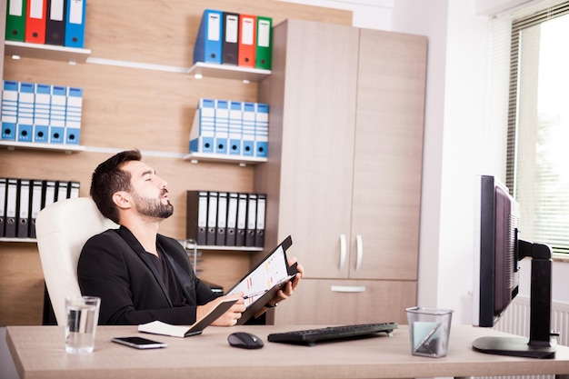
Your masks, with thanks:
[{"label": "bright window with horizontal blinds behind the monitor", "polygon": [[569,2],[512,23],[506,185],[527,240],[569,253]]}]

